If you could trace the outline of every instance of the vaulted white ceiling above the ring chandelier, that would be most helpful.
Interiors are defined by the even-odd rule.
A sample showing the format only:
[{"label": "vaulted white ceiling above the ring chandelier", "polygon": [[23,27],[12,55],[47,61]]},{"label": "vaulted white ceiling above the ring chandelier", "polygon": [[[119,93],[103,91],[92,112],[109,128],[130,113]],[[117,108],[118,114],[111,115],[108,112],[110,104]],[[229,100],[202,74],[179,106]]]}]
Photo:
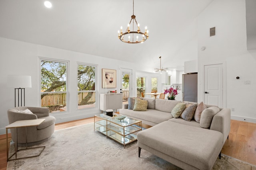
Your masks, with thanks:
[{"label": "vaulted white ceiling above the ring chandelier", "polygon": [[[132,0],[1,0],[0,37],[77,51],[152,68],[181,68],[197,51],[197,16],[213,0],[134,0],[134,15],[149,39],[127,44],[120,26],[132,15]],[[180,55],[184,53],[183,55]],[[179,55],[177,55],[179,54]]]}]

